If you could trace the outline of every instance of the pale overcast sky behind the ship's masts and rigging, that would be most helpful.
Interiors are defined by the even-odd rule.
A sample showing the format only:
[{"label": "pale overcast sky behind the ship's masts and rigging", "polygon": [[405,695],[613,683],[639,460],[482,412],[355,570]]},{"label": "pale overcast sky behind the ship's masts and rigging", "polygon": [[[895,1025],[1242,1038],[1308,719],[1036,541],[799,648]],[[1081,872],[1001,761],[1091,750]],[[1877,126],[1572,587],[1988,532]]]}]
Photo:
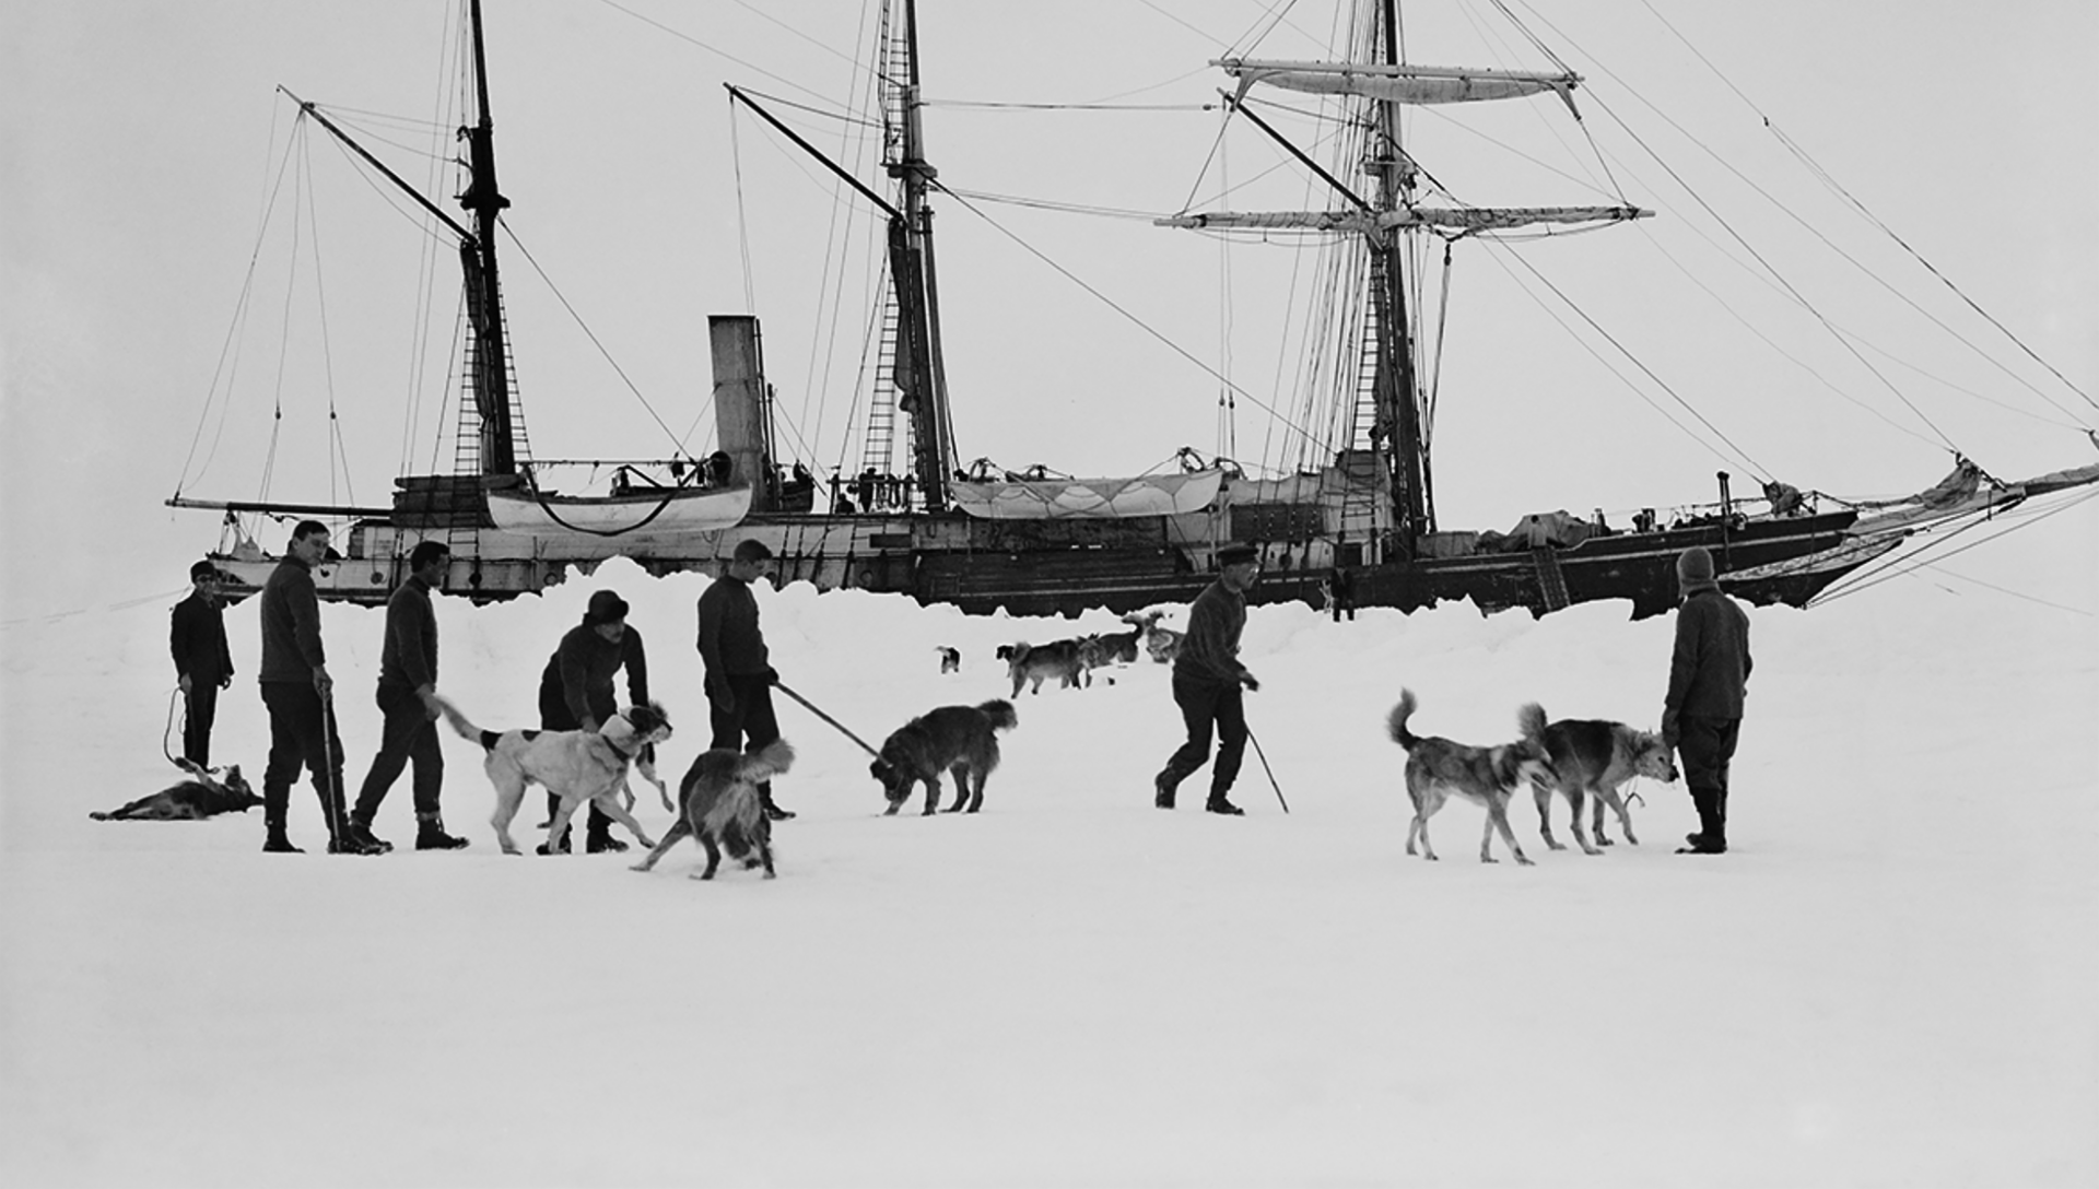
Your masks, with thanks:
[{"label": "pale overcast sky behind the ship's masts and rigging", "polygon": [[[783,409],[800,415],[785,440],[814,438],[808,457],[827,466],[850,403],[861,315],[846,306],[848,333],[835,348],[814,342],[827,310],[819,289],[831,218],[825,185],[777,136],[747,117],[730,120],[722,82],[835,105],[850,90],[867,21],[861,4],[844,0],[800,0],[791,15],[768,15],[779,8],[728,0],[493,4],[497,159],[514,201],[510,226],[672,434],[693,424],[709,384],[707,315],[756,308]],[[2099,419],[2093,405],[2021,361],[1944,289],[1921,281],[1885,237],[1845,216],[1757,111],[2042,359],[2099,392],[2099,273],[2091,264],[2099,260],[2099,224],[2089,218],[2089,195],[2099,189],[2099,120],[2084,94],[2099,10],[2070,0],[1511,0],[1509,8],[1589,75],[1578,96],[1589,134],[1627,197],[1662,212],[1639,229],[1530,245],[1524,260],[1639,352],[1740,453],[1801,487],[1841,495],[1929,484],[1946,468],[1937,434],[2005,478],[2093,461],[2078,430]],[[292,226],[283,210],[269,241],[277,247],[258,256],[256,243],[269,182],[288,159],[294,111],[273,88],[340,109],[428,120],[449,80],[441,57],[449,10],[437,0],[4,4],[6,619],[181,585],[187,560],[216,539],[214,518],[170,512],[162,499],[183,480],[185,461],[189,495],[256,495],[273,390],[281,388],[285,405],[273,487],[281,499],[355,495],[380,503],[403,453],[416,470],[428,466],[426,434],[407,434],[414,445],[403,447],[420,231],[319,138],[304,157],[290,157],[311,166],[313,218],[302,235],[319,243],[327,354],[311,329],[300,331],[283,352],[281,382],[275,321],[285,306],[281,241]],[[1217,115],[1192,107],[1213,101],[1222,84],[1207,59],[1238,42],[1261,13],[1259,4],[1222,0],[926,0],[924,78],[936,103],[1167,107],[942,105],[928,113],[930,157],[942,182],[974,193],[1144,214],[1213,195],[1217,174],[1201,168]],[[1522,38],[1490,4],[1438,2],[1411,13],[1417,61],[1545,65],[1515,48]],[[1297,4],[1255,52],[1316,57],[1310,34],[1324,23],[1322,6]],[[1509,120],[1497,138],[1515,143],[1557,124],[1557,136],[1583,145],[1557,103],[1518,107],[1515,115],[1492,115]],[[1656,109],[2009,361],[2017,377],[1973,363],[1946,346],[1942,331],[1885,294],[1872,296],[1849,264],[1759,206]],[[1524,189],[1469,172],[1484,170],[1473,166],[1484,143],[1446,128],[1444,115],[1417,117],[1417,153],[1465,197],[1536,206],[1599,199],[1572,157],[1545,157],[1562,172],[1541,172],[1539,185]],[[395,143],[374,147],[422,178],[414,138],[386,136]],[[1824,317],[1868,340],[1868,356],[1881,363],[1877,352],[1887,350],[1923,367],[1881,365],[1929,426],[1811,317],[1784,312],[1769,287],[1719,262],[1721,247],[1732,256],[1744,250],[1669,182],[1641,143],[1692,178]],[[1272,164],[1272,151],[1234,134],[1222,164],[1243,182]],[[290,199],[279,203],[288,210]],[[991,224],[955,201],[936,210],[949,377],[966,457],[1112,474],[1154,466],[1182,445],[1215,449],[1215,380],[1152,331],[1230,371],[1264,401],[1282,403],[1276,315],[1261,289],[1287,283],[1285,250],[1238,252],[1226,273],[1215,241],[1142,218],[978,206],[997,220]],[[1016,239],[1056,258],[1127,317]],[[512,243],[504,250],[535,453],[661,455],[670,434],[523,254]],[[260,264],[239,354],[243,388],[222,421],[218,407],[206,421],[252,256]],[[1734,308],[1757,315],[1799,363],[1746,336],[1673,260]],[[441,300],[432,367],[441,373],[455,266],[449,256],[432,264]],[[1505,526],[1545,507],[1706,499],[1715,470],[1742,472],[1553,329],[1530,296],[1541,289],[1511,287],[1518,268],[1492,250],[1473,247],[1459,260],[1438,436],[1446,526]],[[300,285],[294,317],[313,327],[311,266]],[[1220,306],[1226,287],[1230,317]],[[346,426],[353,484],[334,491],[317,449],[330,390]],[[1683,417],[1667,394],[1650,396]],[[434,419],[430,405],[426,421]],[[1257,409],[1243,403],[1236,430],[1236,453],[1257,459],[1268,434]]]}]

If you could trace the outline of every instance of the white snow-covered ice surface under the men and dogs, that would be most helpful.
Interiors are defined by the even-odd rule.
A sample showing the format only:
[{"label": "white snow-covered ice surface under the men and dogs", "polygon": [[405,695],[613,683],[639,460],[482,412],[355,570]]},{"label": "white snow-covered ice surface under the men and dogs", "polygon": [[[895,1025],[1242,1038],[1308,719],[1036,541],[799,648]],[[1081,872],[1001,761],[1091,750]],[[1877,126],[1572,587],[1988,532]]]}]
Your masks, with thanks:
[{"label": "white snow-covered ice surface under the men and dogs", "polygon": [[[1530,868],[1499,841],[1480,864],[1465,803],[1442,862],[1402,851],[1385,711],[1413,688],[1415,728],[1467,742],[1526,700],[1654,726],[1671,619],[1257,608],[1249,717],[1289,816],[1251,751],[1245,818],[1199,812],[1207,770],[1150,807],[1180,723],[1148,661],[1022,694],[968,818],[882,818],[867,755],[779,698],[781,874],[716,883],[691,845],[651,874],[497,853],[455,736],[458,853],[407,849],[405,776],[384,858],[319,853],[304,784],[306,856],[258,853],[260,812],[90,822],[172,776],[172,596],[10,623],[0,1183],[2089,1187],[2093,566],[2000,549],[2019,568],[1990,572],[2065,606],[1921,570],[1755,612],[1732,853],[1671,853],[1690,801],[1650,782],[1641,845],[1597,858],[1549,851],[1520,799]],[[634,604],[676,776],[707,736],[701,577],[445,598],[441,690],[537,726],[598,587]],[[999,642],[1115,625],[760,602],[783,679],[869,742],[1005,696]],[[260,786],[254,604],[227,619],[214,755]],[[382,612],[323,623],[355,788]],[[646,788],[638,812],[661,833]]]}]

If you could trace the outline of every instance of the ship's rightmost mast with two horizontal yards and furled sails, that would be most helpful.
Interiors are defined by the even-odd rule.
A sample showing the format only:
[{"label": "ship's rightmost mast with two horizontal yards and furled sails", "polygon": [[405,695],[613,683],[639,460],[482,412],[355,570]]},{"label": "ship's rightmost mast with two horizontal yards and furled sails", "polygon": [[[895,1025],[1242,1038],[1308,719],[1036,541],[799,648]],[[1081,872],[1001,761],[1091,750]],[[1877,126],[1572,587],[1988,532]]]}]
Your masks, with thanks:
[{"label": "ship's rightmost mast with two horizontal yards and furled sails", "polygon": [[[1245,115],[1282,143],[1314,174],[1324,178],[1341,206],[1324,212],[1209,212],[1161,218],[1161,226],[1207,231],[1306,231],[1348,235],[1369,252],[1371,354],[1373,354],[1373,424],[1371,449],[1383,457],[1392,480],[1392,520],[1396,547],[1413,556],[1415,541],[1436,531],[1434,470],[1429,466],[1429,432],[1425,394],[1415,365],[1415,317],[1406,308],[1413,245],[1421,235],[1444,241],[1490,231],[1513,231],[1536,224],[1597,224],[1646,218],[1652,212],[1631,206],[1574,208],[1429,208],[1417,201],[1419,170],[1404,147],[1400,107],[1438,103],[1482,103],[1557,94],[1574,111],[1574,88],[1581,75],[1572,71],[1509,71],[1425,67],[1404,63],[1398,48],[1396,0],[1373,6],[1371,27],[1360,48],[1369,61],[1266,61],[1215,59],[1238,82],[1228,94],[1228,109]],[[1350,101],[1350,120],[1360,124],[1362,159],[1369,195],[1358,195],[1348,182],[1322,170],[1280,132],[1259,120],[1247,103],[1255,86],[1308,94],[1331,94]]]}]

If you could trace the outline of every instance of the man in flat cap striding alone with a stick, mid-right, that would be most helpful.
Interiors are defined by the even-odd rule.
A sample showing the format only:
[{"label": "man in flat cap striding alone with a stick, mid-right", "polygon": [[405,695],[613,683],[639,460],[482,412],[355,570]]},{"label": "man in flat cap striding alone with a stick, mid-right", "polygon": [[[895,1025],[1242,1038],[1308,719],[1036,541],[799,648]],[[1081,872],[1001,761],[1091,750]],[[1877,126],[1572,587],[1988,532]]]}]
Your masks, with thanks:
[{"label": "man in flat cap striding alone with a stick, mid-right", "polygon": [[1173,702],[1188,723],[1188,742],[1152,778],[1152,805],[1173,807],[1173,791],[1209,759],[1209,738],[1217,734],[1217,763],[1209,770],[1211,814],[1245,814],[1226,793],[1247,755],[1247,707],[1241,690],[1261,684],[1238,663],[1238,633],[1247,627],[1247,589],[1261,575],[1261,556],[1251,545],[1217,549],[1217,581],[1196,596],[1188,610],[1188,635],[1173,658]]}]

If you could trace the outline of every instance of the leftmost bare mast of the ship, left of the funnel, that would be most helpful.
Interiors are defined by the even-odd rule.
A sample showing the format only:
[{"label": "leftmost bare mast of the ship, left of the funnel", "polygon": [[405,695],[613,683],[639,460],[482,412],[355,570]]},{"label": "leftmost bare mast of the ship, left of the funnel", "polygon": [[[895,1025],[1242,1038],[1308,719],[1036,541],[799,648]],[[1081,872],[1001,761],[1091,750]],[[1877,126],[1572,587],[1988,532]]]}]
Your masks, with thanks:
[{"label": "leftmost bare mast of the ship, left of the funnel", "polygon": [[460,241],[466,271],[466,317],[472,325],[474,409],[481,413],[481,474],[516,474],[516,432],[510,424],[510,344],[504,333],[502,285],[495,271],[495,218],[510,199],[495,187],[495,122],[489,117],[489,63],[481,40],[481,0],[472,0],[474,105],[479,120],[460,128],[468,185],[460,195],[474,233]]}]

